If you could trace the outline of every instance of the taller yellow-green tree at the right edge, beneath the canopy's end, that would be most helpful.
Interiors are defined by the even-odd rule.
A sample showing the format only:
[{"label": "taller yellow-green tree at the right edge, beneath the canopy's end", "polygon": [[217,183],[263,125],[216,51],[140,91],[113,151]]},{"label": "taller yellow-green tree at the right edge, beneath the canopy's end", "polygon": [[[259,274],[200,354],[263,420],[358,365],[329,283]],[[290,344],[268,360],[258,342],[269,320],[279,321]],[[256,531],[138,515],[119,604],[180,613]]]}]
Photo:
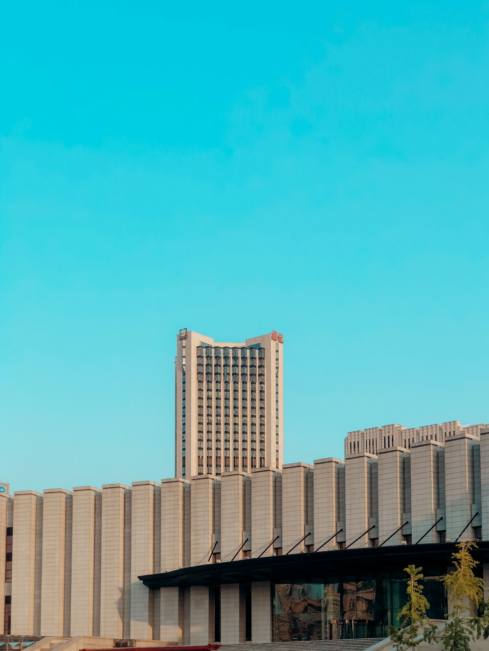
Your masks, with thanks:
[{"label": "taller yellow-green tree at the right edge, beneath the canopy's end", "polygon": [[[443,647],[447,651],[470,651],[470,641],[489,637],[489,612],[484,603],[484,581],[474,574],[478,564],[471,551],[477,547],[475,542],[464,540],[457,545],[452,554],[455,569],[441,577],[452,602],[449,621],[443,630]],[[470,602],[474,602],[481,612],[476,617],[464,616]]]}]

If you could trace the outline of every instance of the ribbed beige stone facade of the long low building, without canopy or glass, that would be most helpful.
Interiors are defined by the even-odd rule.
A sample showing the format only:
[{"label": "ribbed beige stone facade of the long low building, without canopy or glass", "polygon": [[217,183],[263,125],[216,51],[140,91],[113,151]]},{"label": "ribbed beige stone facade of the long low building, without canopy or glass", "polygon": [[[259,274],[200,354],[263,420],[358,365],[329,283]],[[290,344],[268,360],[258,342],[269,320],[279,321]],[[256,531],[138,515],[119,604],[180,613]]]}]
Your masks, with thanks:
[{"label": "ribbed beige stone facade of the long low building, without canopy or glass", "polygon": [[[374,547],[389,536],[386,546],[455,540],[470,520],[462,539],[489,540],[489,431],[378,452],[250,474],[1,494],[0,553],[13,541],[11,580],[8,564],[0,568],[10,632],[207,643],[214,589],[149,590],[138,576],[292,548]],[[223,642],[244,641],[246,598],[248,635],[272,639],[270,583],[253,583],[249,594],[222,587]]]}]

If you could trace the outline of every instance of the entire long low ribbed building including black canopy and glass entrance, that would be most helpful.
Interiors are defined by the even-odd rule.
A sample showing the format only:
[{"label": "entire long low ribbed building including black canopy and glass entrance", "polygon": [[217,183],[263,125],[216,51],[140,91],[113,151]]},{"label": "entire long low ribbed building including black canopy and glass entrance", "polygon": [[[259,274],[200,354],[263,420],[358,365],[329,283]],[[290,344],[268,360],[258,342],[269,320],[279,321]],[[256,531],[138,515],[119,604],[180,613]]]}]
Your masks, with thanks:
[{"label": "entire long low ribbed building including black canopy and glass entrance", "polygon": [[[197,363],[207,356],[195,348]],[[221,475],[196,464],[162,482],[0,493],[0,634],[106,647],[379,638],[409,562],[443,618],[438,577],[455,540],[479,540],[489,590],[489,428],[454,425],[445,440],[431,438],[439,426],[417,431],[428,435],[378,454],[355,441],[344,461],[277,468],[272,454],[246,473],[240,460]]]}]

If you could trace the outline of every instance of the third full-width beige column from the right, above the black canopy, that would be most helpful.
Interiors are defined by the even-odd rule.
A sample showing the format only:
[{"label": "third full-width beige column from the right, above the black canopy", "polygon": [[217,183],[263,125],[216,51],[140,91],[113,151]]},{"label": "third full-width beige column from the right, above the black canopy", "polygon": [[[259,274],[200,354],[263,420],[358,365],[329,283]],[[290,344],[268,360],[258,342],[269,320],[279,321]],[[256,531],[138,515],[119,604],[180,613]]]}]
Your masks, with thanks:
[{"label": "third full-width beige column from the right, above the black canopy", "polygon": [[[379,450],[379,544],[383,543],[402,524],[402,514],[406,512],[404,486],[404,458],[406,450],[393,447]],[[385,546],[400,545],[404,540],[403,531],[398,531]],[[411,531],[406,526],[406,531]]]}]

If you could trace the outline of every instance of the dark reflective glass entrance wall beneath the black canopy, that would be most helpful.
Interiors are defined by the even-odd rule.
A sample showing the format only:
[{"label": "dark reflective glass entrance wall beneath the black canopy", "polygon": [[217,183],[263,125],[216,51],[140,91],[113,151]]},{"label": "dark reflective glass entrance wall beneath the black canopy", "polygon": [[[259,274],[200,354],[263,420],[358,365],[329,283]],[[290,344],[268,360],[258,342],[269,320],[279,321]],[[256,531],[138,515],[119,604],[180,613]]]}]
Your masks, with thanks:
[{"label": "dark reflective glass entrance wall beneath the black canopy", "polygon": [[[406,602],[402,575],[334,577],[326,583],[276,583],[273,588],[273,640],[339,640],[386,637]],[[443,619],[445,589],[439,577],[425,577],[428,615]]]}]

